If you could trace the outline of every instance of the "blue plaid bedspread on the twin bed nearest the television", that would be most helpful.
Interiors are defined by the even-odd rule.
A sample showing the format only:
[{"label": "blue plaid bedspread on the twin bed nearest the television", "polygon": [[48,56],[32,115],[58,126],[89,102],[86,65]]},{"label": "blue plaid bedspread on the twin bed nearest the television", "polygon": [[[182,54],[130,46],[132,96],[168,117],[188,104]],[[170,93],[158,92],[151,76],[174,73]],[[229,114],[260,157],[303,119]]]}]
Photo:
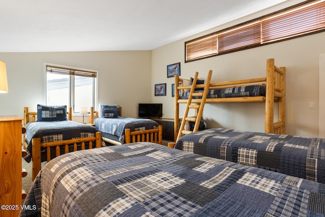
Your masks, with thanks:
[{"label": "blue plaid bedspread on the twin bed nearest the television", "polygon": [[122,144],[125,140],[125,129],[133,132],[158,128],[158,123],[154,120],[132,117],[99,117],[94,119],[94,124],[99,131],[118,136]]}]

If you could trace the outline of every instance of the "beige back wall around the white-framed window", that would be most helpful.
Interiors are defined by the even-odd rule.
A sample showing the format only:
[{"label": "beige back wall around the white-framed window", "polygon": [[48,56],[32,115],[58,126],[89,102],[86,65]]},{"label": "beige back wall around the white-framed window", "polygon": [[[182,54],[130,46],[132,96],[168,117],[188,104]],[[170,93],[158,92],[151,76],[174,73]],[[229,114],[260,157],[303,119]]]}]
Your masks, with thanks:
[{"label": "beige back wall around the white-framed window", "polygon": [[[0,114],[23,117],[44,102],[44,63],[99,71],[99,103],[119,104],[137,117],[138,103],[151,100],[151,51],[0,53],[9,92],[0,95]],[[86,119],[85,119],[86,120]],[[82,119],[81,119],[82,121]]]}]

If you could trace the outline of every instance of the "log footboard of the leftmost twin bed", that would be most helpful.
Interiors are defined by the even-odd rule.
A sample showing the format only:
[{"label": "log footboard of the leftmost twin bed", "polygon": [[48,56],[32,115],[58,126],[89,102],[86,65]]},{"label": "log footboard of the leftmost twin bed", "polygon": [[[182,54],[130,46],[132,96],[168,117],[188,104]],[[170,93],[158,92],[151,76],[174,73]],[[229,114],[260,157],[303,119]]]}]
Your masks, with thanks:
[{"label": "log footboard of the leftmost twin bed", "polygon": [[69,153],[69,146],[73,145],[73,151],[77,151],[77,144],[81,144],[81,150],[86,149],[85,143],[89,142],[89,149],[92,148],[93,142],[96,148],[102,147],[102,135],[101,132],[96,132],[94,137],[86,137],[79,139],[70,139],[56,142],[41,143],[41,138],[32,139],[31,148],[31,181],[34,181],[37,174],[41,170],[41,148],[46,148],[47,162],[51,160],[51,147],[55,147],[55,157],[60,156],[60,148],[64,147],[64,153]]}]

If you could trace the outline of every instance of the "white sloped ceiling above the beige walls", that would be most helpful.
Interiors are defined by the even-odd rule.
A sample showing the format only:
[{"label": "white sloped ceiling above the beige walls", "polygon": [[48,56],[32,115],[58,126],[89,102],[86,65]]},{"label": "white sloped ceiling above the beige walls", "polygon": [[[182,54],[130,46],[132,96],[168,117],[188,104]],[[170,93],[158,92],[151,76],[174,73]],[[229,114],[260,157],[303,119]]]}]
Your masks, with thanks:
[{"label": "white sloped ceiling above the beige walls", "polygon": [[152,50],[287,0],[1,0],[0,52]]}]

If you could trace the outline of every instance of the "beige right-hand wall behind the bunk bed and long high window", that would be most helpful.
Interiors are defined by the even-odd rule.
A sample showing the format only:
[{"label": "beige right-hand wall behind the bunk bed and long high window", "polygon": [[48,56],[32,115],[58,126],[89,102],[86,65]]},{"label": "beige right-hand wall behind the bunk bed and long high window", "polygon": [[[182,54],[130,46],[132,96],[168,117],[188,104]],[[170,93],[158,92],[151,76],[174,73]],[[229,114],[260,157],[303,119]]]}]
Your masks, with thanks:
[{"label": "beige right-hand wall behind the bunk bed and long high window", "polygon": [[[199,72],[200,78],[206,78],[208,71],[213,70],[211,82],[218,82],[263,77],[266,73],[266,59],[275,58],[276,65],[285,66],[287,70],[287,134],[317,137],[319,55],[325,53],[325,33],[184,63],[185,41],[298,2],[288,1],[282,6],[152,50],[152,85],[167,83],[167,96],[154,97],[152,95],[152,102],[164,104],[165,118],[174,117],[174,98],[171,97],[171,85],[174,83],[174,79],[167,78],[167,65],[181,62],[181,77],[184,78],[193,76],[196,71]],[[314,109],[309,109],[309,102],[315,102]],[[265,107],[262,103],[206,104],[203,118],[209,128],[222,127],[264,132],[264,112]]]}]

